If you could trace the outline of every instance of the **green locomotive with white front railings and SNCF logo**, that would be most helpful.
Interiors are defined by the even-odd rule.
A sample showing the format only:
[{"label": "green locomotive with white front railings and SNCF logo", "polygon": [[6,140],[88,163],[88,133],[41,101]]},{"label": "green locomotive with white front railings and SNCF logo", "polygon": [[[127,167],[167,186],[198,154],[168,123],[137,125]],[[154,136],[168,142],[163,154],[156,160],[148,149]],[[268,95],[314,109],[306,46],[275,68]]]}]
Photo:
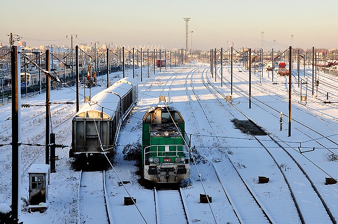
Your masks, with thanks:
[{"label": "green locomotive with white front railings and SNCF logo", "polygon": [[180,112],[168,105],[151,107],[142,122],[145,179],[175,183],[190,176],[190,139]]}]

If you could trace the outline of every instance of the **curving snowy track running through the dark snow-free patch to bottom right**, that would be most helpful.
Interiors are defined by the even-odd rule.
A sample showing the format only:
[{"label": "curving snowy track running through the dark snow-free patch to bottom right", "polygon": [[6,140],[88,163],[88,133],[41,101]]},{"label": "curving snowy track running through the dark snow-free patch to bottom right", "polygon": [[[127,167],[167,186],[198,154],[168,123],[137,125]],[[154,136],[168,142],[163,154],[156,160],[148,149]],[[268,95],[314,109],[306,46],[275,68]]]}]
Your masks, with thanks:
[{"label": "curving snowy track running through the dark snow-free patch to bottom right", "polygon": [[[214,86],[212,86],[212,88],[216,91],[214,94],[215,97],[217,94],[222,94]],[[223,95],[222,98],[224,99],[225,96]],[[236,108],[236,106],[234,107]],[[238,108],[236,109],[240,111]],[[243,112],[241,113],[244,114]],[[246,117],[251,119],[248,116]],[[276,165],[279,167],[280,171],[283,173],[285,181],[289,186],[292,198],[295,202],[295,206],[297,207],[301,222],[308,223],[314,222],[315,220],[315,223],[328,223],[330,221],[332,223],[337,223],[330,208],[323,200],[313,181],[299,165],[299,163],[280,145],[280,143],[278,143],[271,135],[268,135],[268,137],[266,137],[267,139],[264,139],[262,136],[260,139],[258,139],[256,136],[254,136],[254,138],[259,141],[260,144],[266,149],[268,154],[273,158]],[[273,140],[272,142],[268,141],[271,139]],[[279,150],[280,148],[283,150]],[[292,172],[286,172],[289,169],[292,170]],[[300,183],[302,183],[301,191],[297,190],[300,187]],[[319,213],[321,213],[321,215],[318,215]]]}]

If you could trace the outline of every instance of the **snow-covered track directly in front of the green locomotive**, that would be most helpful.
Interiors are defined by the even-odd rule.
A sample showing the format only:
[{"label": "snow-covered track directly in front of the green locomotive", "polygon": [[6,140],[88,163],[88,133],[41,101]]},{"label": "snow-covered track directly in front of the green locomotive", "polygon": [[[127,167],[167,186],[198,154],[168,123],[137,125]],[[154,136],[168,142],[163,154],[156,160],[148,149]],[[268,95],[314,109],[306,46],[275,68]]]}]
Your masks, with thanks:
[{"label": "snow-covered track directly in front of the green locomotive", "polygon": [[180,191],[154,189],[157,224],[188,223]]}]

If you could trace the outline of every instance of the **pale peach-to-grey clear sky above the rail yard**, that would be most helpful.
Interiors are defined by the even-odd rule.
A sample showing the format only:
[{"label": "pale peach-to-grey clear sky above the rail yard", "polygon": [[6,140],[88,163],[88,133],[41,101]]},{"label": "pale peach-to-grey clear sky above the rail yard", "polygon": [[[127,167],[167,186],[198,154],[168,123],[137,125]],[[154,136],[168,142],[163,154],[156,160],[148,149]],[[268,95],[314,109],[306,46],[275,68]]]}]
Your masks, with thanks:
[{"label": "pale peach-to-grey clear sky above the rail yard", "polygon": [[3,45],[12,32],[29,46],[70,46],[77,34],[73,45],[185,48],[189,17],[189,49],[191,38],[193,49],[259,48],[261,32],[265,50],[291,39],[295,48],[338,47],[337,0],[2,0],[0,8]]}]

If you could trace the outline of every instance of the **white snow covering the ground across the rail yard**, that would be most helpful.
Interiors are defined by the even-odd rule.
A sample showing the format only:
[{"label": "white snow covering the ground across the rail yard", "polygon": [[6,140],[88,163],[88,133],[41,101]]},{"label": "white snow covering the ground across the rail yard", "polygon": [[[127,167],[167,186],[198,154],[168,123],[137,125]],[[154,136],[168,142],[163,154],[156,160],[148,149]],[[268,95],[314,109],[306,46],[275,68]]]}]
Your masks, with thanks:
[{"label": "white snow covering the ground across the rail yard", "polygon": [[[143,69],[143,73],[146,74],[147,67]],[[238,69],[241,69],[242,72],[238,72]],[[152,70],[150,71],[150,78],[143,77],[143,82],[140,81],[140,69],[136,70],[133,84],[138,84],[139,102],[121,127],[118,147],[113,160],[114,169],[105,172],[106,196],[112,213],[111,223],[156,223],[154,191],[145,189],[138,183],[140,177],[136,174],[135,161],[124,160],[122,150],[125,145],[135,143],[141,138],[142,117],[149,107],[159,103],[158,97],[160,95],[166,95],[169,102],[172,102],[171,105],[181,112],[186,122],[186,132],[192,134],[192,146],[194,145],[201,155],[198,160],[199,163],[191,164],[191,177],[187,179],[182,188],[189,223],[239,223],[239,218],[235,215],[234,210],[240,212],[241,220],[244,223],[267,223],[266,217],[254,203],[253,197],[248,195],[238,173],[249,185],[249,188],[253,190],[258,200],[266,207],[275,223],[301,223],[290,190],[278,166],[283,168],[284,175],[290,182],[296,197],[298,197],[297,202],[304,212],[306,222],[331,223],[325,211],[321,210],[321,202],[311,196],[313,191],[308,190],[311,187],[310,183],[304,179],[304,175],[299,174],[297,165],[290,161],[290,157],[288,158],[277,144],[271,142],[267,136],[257,136],[273,154],[277,166],[266,149],[252,135],[243,134],[234,127],[231,122],[234,116],[239,120],[246,120],[247,117],[250,117],[266,132],[275,136],[279,144],[295,157],[298,164],[306,171],[334,217],[336,220],[338,219],[337,184],[324,184],[326,177],[338,178],[338,162],[329,161],[327,158],[331,152],[338,153],[337,104],[319,104],[326,99],[326,92],[328,91],[330,91],[330,97],[332,97],[330,100],[337,101],[337,90],[327,90],[324,89],[324,86],[319,86],[317,96],[308,94],[306,105],[304,105],[305,102],[300,102],[300,99],[294,99],[294,96],[292,96],[294,100],[291,109],[292,118],[304,122],[307,126],[325,136],[330,136],[329,138],[332,141],[328,141],[322,135],[299,125],[295,120],[292,120],[291,136],[289,137],[288,85],[285,77],[274,74],[274,82],[280,84],[273,85],[271,73],[267,74],[264,70],[263,77],[260,77],[261,72],[253,74],[252,104],[251,109],[249,109],[248,95],[246,94],[248,93],[248,71],[242,69],[241,66],[238,66],[238,69],[234,69],[234,92],[232,95],[234,105],[226,102],[225,99],[221,103],[218,102],[215,96],[202,84],[203,79],[214,85],[222,94],[231,95],[229,67],[223,67],[224,83],[222,86],[219,77],[217,77],[216,82],[215,77],[211,77],[209,65],[199,63],[175,68],[167,67],[167,69],[161,69],[161,73],[156,70],[155,76]],[[132,72],[132,70],[126,70],[126,76],[132,77]],[[219,68],[217,72],[220,72]],[[309,76],[309,80],[312,75],[310,73],[309,71],[309,74],[306,74],[306,76]],[[122,78],[121,72],[112,73],[110,82],[114,83],[120,78]],[[301,78],[306,80],[303,74]],[[98,79],[100,80],[100,78]],[[321,79],[326,80],[328,78],[321,74]],[[190,82],[192,82],[192,86]],[[296,76],[293,82],[296,82]],[[104,90],[105,86],[106,84],[102,83],[102,86],[92,88],[92,95]],[[292,88],[294,92],[301,91],[296,84],[292,84]],[[304,94],[305,87],[302,88]],[[80,91],[82,90],[83,87]],[[200,104],[197,102],[196,96],[193,95],[193,90]],[[263,90],[263,92],[259,90]],[[86,91],[88,92],[88,90]],[[82,94],[82,92],[80,93]],[[219,97],[219,94],[217,95]],[[51,102],[75,102],[75,99],[75,87],[52,90],[50,93]],[[191,103],[188,102],[189,100]],[[22,103],[31,105],[42,105],[45,101],[44,94],[22,99]],[[80,106],[82,106],[84,104],[83,96],[80,97],[80,101]],[[276,110],[267,106],[264,106],[264,110],[262,110],[259,107],[263,105],[262,102]],[[11,120],[7,119],[11,116],[10,108],[11,105],[7,104],[0,107],[1,144],[11,142]],[[55,142],[70,146],[75,104],[52,104],[50,110],[51,127],[53,133],[56,134]],[[284,113],[282,131],[279,130],[281,111]],[[23,108],[21,115],[23,143],[44,144],[45,108]],[[300,145],[301,147],[298,149]],[[315,148],[314,151],[299,153],[299,150],[312,150],[313,147]],[[107,222],[99,216],[104,208],[101,208],[101,204],[98,206],[97,198],[91,198],[98,194],[97,191],[102,194],[103,189],[88,189],[90,196],[79,198],[80,172],[73,169],[72,162],[68,158],[68,151],[69,147],[56,149],[56,155],[59,159],[56,161],[56,173],[50,173],[48,209],[46,212],[28,213],[27,207],[22,202],[20,221],[27,224],[73,224],[77,223],[79,216],[86,216],[88,218],[86,223],[91,223],[91,217],[96,219],[93,223]],[[20,197],[24,199],[28,197],[29,167],[33,163],[43,164],[44,161],[45,147],[22,145],[22,176],[20,178],[22,195]],[[218,177],[214,167],[217,170]],[[10,145],[0,148],[0,176],[2,177],[0,203],[10,205]],[[269,182],[259,184],[259,176],[269,178]],[[121,180],[129,181],[129,183],[122,185]],[[230,200],[225,196],[225,191],[231,198]],[[129,194],[137,200],[137,206],[123,205],[123,198],[129,197]],[[210,205],[199,203],[200,194],[211,196],[212,203]],[[159,197],[162,196],[161,193]],[[84,197],[84,194],[81,193],[81,197]],[[170,205],[172,198],[171,196],[167,198],[168,205]],[[99,200],[103,203],[102,198]],[[166,198],[161,199],[161,202],[163,201],[166,201]],[[87,207],[92,209],[85,210],[85,215],[80,214],[80,212],[84,212],[83,210],[79,211],[79,209],[82,209],[82,203],[92,206]],[[8,207],[6,209],[0,207],[0,209],[4,211]],[[160,221],[158,223],[176,222],[174,214],[182,214],[181,210],[182,206],[173,205],[169,210],[160,204]],[[177,221],[176,223],[182,222]]]}]

